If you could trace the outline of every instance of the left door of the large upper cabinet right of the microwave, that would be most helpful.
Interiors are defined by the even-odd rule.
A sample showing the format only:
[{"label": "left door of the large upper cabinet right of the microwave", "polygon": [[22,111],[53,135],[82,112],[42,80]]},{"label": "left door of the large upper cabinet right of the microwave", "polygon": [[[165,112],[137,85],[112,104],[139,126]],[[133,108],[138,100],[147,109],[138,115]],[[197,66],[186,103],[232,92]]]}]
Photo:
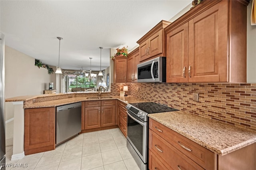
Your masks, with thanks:
[{"label": "left door of the large upper cabinet right of the microwave", "polygon": [[166,82],[188,82],[188,23],[166,35]]}]

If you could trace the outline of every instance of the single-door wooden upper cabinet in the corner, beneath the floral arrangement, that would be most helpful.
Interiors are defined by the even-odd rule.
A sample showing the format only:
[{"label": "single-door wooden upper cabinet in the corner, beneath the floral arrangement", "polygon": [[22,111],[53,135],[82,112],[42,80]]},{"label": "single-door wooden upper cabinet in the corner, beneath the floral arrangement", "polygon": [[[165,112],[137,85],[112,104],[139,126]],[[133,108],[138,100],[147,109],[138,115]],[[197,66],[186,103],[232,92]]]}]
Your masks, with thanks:
[{"label": "single-door wooden upper cabinet in the corner, beneath the floral arrangement", "polygon": [[114,59],[114,83],[127,82],[127,57],[115,57]]}]

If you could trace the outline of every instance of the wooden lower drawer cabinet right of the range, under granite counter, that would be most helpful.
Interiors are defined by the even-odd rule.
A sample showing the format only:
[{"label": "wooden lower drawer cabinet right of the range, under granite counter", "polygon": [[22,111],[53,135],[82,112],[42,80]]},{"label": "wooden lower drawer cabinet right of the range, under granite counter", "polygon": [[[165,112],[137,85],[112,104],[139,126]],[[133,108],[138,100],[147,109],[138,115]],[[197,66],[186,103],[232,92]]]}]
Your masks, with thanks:
[{"label": "wooden lower drawer cabinet right of the range, under granite counter", "polygon": [[219,156],[153,119],[149,119],[148,136],[150,170],[255,170],[256,167],[256,143]]}]

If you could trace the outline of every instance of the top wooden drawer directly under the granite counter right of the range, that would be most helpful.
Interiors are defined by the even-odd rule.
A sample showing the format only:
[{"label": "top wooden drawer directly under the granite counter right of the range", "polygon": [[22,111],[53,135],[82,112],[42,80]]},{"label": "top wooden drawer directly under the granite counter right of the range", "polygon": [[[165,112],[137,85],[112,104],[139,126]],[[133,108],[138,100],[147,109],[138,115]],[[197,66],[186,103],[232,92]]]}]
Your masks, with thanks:
[{"label": "top wooden drawer directly under the granite counter right of the range", "polygon": [[205,169],[214,169],[215,154],[170,128],[150,119],[149,128]]}]

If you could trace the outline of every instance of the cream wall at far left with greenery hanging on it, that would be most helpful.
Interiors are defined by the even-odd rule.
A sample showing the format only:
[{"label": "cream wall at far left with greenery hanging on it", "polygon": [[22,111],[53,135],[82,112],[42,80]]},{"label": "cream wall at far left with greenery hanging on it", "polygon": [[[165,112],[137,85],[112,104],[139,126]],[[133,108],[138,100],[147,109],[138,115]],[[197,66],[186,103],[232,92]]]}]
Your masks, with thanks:
[{"label": "cream wall at far left with greenery hanging on it", "polygon": [[[55,67],[52,67],[55,69]],[[55,73],[35,66],[35,59],[5,45],[5,98],[39,95],[48,89],[49,82],[56,85]],[[56,87],[54,87],[56,88]],[[6,102],[5,120],[13,118],[12,102]]]}]

